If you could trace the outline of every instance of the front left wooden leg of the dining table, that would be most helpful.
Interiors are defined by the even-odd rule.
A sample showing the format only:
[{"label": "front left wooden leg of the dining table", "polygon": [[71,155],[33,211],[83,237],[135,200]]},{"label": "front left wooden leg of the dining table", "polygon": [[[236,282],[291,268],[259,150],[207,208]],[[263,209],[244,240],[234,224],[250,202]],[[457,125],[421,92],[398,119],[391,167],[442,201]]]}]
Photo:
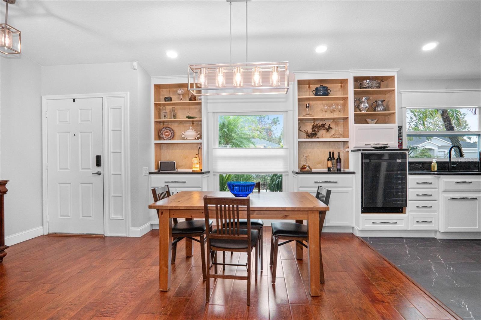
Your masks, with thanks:
[{"label": "front left wooden leg of the dining table", "polygon": [[159,288],[168,291],[170,288],[170,262],[172,247],[172,218],[168,209],[158,209],[159,213]]}]

